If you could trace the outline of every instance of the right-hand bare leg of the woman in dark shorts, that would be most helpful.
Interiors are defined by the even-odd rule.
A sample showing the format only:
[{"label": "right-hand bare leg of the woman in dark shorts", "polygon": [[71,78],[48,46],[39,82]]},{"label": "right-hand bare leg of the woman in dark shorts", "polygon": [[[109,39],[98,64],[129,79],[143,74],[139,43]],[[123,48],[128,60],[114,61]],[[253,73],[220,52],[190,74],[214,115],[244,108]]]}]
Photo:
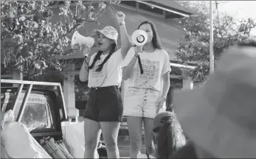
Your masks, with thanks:
[{"label": "right-hand bare leg of the woman in dark shorts", "polygon": [[100,127],[103,131],[105,147],[108,152],[108,158],[120,158],[119,149],[117,146],[117,137],[120,128],[119,121],[100,121]]}]

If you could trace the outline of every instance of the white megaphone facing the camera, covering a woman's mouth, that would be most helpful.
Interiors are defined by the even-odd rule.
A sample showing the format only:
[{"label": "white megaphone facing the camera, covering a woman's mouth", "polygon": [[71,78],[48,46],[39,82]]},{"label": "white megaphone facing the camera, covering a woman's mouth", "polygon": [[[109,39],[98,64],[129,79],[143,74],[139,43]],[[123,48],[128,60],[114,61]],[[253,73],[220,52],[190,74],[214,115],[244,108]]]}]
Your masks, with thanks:
[{"label": "white megaphone facing the camera, covering a woman's mouth", "polygon": [[137,29],[131,35],[131,40],[136,46],[145,45],[145,43],[148,41],[148,34],[142,29]]}]

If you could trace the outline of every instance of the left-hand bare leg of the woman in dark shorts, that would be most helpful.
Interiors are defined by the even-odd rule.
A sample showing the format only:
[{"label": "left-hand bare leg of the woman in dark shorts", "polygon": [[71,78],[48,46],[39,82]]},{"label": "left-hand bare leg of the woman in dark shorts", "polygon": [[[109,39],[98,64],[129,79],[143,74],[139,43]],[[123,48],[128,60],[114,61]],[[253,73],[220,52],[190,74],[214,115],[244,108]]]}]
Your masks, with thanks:
[{"label": "left-hand bare leg of the woman in dark shorts", "polygon": [[84,119],[85,152],[84,158],[97,158],[97,144],[100,140],[100,124],[91,119]]}]

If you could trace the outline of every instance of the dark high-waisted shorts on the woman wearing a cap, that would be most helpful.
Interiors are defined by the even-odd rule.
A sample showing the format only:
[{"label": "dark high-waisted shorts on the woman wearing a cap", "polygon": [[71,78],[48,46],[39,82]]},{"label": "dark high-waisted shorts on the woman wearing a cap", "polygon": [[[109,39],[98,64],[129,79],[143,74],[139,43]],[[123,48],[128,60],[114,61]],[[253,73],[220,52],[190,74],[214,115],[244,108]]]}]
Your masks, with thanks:
[{"label": "dark high-waisted shorts on the woman wearing a cap", "polygon": [[122,122],[122,113],[122,97],[117,86],[91,88],[84,118]]}]

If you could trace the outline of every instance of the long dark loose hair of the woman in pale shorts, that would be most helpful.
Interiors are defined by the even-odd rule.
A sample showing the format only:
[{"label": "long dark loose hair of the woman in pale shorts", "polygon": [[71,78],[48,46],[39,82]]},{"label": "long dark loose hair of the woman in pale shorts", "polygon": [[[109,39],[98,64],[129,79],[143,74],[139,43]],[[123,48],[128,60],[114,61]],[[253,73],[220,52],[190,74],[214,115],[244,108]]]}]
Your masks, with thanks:
[{"label": "long dark loose hair of the woman in pale shorts", "polygon": [[[143,21],[141,24],[139,24],[139,27],[142,26],[143,24],[150,24],[151,25],[151,29],[153,32],[153,38],[152,38],[152,44],[153,44],[153,48],[154,49],[162,49],[162,43],[159,39],[159,35],[157,33],[157,29],[155,24],[153,24],[152,21]],[[138,29],[139,29],[138,27]]]}]

